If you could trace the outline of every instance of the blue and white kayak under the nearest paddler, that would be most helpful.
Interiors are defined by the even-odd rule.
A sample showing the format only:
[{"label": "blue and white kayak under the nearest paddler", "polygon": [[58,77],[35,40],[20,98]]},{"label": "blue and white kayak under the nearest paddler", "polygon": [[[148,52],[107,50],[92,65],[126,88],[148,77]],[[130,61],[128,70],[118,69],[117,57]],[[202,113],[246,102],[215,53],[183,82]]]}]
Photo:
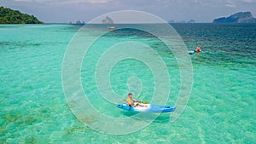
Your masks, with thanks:
[{"label": "blue and white kayak under the nearest paddler", "polygon": [[176,108],[176,106],[159,106],[159,105],[151,105],[151,104],[145,104],[145,107],[131,107],[125,103],[117,105],[116,107],[119,107],[127,111],[136,111],[136,112],[173,112]]}]

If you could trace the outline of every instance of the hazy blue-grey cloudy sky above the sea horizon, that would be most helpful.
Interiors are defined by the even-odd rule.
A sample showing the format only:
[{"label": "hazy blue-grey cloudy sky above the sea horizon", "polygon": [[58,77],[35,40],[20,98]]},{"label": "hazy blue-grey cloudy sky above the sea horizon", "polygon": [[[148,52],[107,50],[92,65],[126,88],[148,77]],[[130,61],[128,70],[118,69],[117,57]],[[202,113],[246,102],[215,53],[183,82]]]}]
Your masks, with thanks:
[{"label": "hazy blue-grey cloudy sky above the sea horizon", "polygon": [[256,0],[0,0],[0,6],[33,14],[45,23],[90,21],[118,10],[139,10],[168,20],[212,22],[240,11],[256,17]]}]

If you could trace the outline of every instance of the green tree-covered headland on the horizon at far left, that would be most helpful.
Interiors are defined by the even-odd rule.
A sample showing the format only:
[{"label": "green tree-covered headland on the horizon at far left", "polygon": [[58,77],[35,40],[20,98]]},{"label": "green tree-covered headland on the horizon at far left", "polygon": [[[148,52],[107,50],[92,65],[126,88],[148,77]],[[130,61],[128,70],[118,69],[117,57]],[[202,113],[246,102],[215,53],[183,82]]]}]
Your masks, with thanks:
[{"label": "green tree-covered headland on the horizon at far left", "polygon": [[0,24],[41,24],[33,15],[22,14],[19,10],[0,7]]}]

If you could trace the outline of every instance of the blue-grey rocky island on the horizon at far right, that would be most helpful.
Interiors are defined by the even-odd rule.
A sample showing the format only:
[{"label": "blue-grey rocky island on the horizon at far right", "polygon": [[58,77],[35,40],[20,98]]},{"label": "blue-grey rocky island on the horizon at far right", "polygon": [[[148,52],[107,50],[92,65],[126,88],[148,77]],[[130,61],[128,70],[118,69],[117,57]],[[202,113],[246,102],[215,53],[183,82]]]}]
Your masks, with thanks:
[{"label": "blue-grey rocky island on the horizon at far right", "polygon": [[212,23],[256,23],[256,19],[251,12],[239,12],[229,17],[215,19]]}]

